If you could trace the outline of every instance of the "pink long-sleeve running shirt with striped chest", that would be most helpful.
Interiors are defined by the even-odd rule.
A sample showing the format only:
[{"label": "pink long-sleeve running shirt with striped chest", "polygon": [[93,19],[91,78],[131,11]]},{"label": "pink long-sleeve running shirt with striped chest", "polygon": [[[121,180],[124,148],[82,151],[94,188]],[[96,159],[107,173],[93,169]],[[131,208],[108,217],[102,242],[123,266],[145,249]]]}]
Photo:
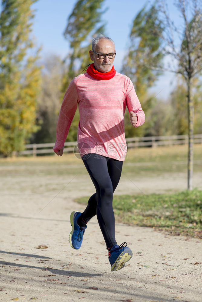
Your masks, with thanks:
[{"label": "pink long-sleeve running shirt with striped chest", "polygon": [[127,147],[124,133],[126,106],[137,114],[135,127],[145,122],[145,114],[131,80],[118,72],[109,80],[98,80],[87,72],[75,77],[63,98],[56,129],[54,151],[64,146],[74,114],[79,106],[77,142],[80,156],[96,153],[124,161]]}]

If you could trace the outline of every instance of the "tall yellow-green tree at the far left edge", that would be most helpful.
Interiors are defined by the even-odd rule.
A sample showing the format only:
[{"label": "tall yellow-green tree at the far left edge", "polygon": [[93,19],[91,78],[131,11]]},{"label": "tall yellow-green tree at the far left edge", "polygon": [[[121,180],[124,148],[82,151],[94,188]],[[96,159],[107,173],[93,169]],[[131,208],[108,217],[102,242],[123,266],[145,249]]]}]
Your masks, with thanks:
[{"label": "tall yellow-green tree at the far left edge", "polygon": [[0,153],[20,151],[35,125],[41,70],[31,26],[35,0],[2,0],[0,15]]}]

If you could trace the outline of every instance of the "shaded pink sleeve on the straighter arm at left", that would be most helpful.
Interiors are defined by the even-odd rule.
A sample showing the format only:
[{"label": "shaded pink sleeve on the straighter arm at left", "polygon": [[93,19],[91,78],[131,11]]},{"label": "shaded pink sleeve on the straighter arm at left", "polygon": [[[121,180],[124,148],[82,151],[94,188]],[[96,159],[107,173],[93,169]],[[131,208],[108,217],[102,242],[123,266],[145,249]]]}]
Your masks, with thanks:
[{"label": "shaded pink sleeve on the straighter arm at left", "polygon": [[76,82],[76,78],[71,81],[62,101],[60,114],[57,121],[56,142],[55,146],[53,147],[55,152],[58,152],[60,148],[64,146],[73,117],[77,110],[79,98]]}]

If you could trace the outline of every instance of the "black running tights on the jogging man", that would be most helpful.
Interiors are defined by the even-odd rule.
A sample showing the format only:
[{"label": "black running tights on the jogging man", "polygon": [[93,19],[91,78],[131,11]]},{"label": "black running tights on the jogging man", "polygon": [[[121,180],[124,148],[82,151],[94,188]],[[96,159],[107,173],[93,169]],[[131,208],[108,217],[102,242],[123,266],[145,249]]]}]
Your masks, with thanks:
[{"label": "black running tights on the jogging man", "polygon": [[102,231],[106,247],[116,244],[115,219],[112,207],[113,192],[121,177],[123,162],[91,153],[82,157],[84,165],[96,188],[81,218],[86,223],[95,215]]}]

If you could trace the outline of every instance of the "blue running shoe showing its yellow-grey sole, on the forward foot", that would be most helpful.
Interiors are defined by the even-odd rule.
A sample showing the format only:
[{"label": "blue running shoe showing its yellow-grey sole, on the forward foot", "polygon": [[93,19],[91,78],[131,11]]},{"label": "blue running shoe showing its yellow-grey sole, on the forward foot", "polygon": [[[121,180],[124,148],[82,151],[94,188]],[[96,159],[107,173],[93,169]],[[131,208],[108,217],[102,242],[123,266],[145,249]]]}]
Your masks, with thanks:
[{"label": "blue running shoe showing its yellow-grey sole, on the forward foot", "polygon": [[111,264],[111,271],[118,271],[125,266],[125,262],[132,258],[132,251],[124,242],[120,246],[115,244],[109,252],[109,263]]}]

